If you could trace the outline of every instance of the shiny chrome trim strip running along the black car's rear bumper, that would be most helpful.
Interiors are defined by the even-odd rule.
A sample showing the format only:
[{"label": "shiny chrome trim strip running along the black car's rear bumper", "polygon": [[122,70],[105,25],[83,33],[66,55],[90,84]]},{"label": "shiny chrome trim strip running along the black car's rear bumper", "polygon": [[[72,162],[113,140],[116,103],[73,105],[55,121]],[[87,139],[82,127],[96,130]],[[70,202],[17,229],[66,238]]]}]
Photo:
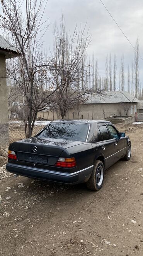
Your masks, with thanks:
[{"label": "shiny chrome trim strip running along the black car's rear bumper", "polygon": [[20,169],[31,169],[33,171],[41,171],[41,172],[45,172],[45,173],[48,173],[48,174],[57,174],[57,175],[61,175],[61,176],[72,176],[72,175],[75,175],[75,174],[78,174],[80,172],[84,172],[85,170],[88,170],[89,168],[92,168],[94,167],[93,165],[87,167],[87,168],[84,168],[80,171],[77,171],[77,172],[73,172],[73,173],[65,173],[65,172],[54,172],[54,171],[51,171],[51,170],[45,170],[45,169],[39,169],[39,168],[32,168],[32,167],[28,167],[28,166],[23,166],[23,165],[15,165],[15,164],[12,164],[12,163],[7,163],[7,165],[11,165],[14,166],[14,167],[18,167]]}]

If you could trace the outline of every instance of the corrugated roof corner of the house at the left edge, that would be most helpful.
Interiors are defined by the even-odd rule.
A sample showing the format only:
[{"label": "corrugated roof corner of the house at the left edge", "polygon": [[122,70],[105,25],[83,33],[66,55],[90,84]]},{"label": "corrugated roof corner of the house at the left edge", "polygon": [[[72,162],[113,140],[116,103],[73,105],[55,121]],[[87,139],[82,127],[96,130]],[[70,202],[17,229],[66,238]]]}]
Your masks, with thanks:
[{"label": "corrugated roof corner of the house at the left edge", "polygon": [[2,35],[0,35],[0,54],[5,55],[6,59],[20,55],[20,53],[17,52],[17,48],[12,46]]}]

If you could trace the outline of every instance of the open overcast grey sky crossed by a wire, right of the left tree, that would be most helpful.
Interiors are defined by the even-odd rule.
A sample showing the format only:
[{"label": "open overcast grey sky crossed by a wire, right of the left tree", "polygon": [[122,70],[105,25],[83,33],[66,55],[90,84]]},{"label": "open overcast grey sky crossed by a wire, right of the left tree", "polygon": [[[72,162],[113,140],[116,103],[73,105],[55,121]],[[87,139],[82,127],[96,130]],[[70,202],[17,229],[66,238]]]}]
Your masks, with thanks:
[{"label": "open overcast grey sky crossed by a wire, right of the left tree", "polygon": [[[140,55],[143,58],[143,0],[102,0],[128,39],[135,45],[140,39]],[[124,54],[125,71],[131,65],[134,49],[109,16],[100,0],[48,0],[45,16],[49,17],[49,28],[44,36],[45,44],[52,47],[53,25],[59,23],[61,12],[65,16],[66,30],[72,30],[76,23],[85,25],[92,34],[92,42],[87,50],[94,53],[99,61],[99,74],[105,75],[106,54],[117,55],[117,72],[121,56]],[[140,60],[140,81],[143,83],[143,61]],[[125,84],[127,78],[125,80]]]}]

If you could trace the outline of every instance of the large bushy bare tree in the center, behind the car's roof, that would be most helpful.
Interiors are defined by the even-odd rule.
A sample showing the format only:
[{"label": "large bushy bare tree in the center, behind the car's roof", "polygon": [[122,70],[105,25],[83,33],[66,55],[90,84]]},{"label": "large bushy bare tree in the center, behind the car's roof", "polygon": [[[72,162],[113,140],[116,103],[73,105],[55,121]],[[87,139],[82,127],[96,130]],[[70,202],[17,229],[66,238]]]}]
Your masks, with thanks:
[{"label": "large bushy bare tree in the center, behind the car's roof", "polygon": [[65,118],[70,107],[78,104],[79,100],[84,100],[85,95],[88,95],[94,89],[85,89],[82,86],[83,78],[86,80],[86,67],[83,67],[82,57],[85,55],[90,42],[90,36],[87,34],[84,37],[84,34],[85,28],[79,31],[76,26],[73,35],[70,34],[69,37],[66,33],[63,15],[60,30],[57,26],[54,26],[53,58],[56,69],[52,70],[51,74],[53,84],[57,88],[54,104],[57,105],[62,119]]}]

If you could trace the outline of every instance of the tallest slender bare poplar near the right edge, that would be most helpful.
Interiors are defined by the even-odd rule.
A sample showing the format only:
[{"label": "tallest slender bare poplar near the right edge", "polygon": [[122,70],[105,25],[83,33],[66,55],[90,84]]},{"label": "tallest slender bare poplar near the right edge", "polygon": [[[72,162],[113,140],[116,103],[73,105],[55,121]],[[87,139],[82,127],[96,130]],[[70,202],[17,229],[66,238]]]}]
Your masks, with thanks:
[{"label": "tallest slender bare poplar near the right edge", "polygon": [[136,39],[135,52],[134,52],[134,88],[135,96],[138,98],[140,78],[139,78],[139,38]]}]

